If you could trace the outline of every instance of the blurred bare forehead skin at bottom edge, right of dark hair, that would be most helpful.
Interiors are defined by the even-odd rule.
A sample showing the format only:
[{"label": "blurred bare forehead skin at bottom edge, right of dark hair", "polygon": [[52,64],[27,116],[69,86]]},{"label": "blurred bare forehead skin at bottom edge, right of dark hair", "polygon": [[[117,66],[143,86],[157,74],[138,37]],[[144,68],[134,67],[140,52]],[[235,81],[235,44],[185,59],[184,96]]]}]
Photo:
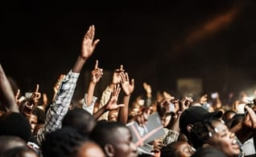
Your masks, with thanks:
[{"label": "blurred bare forehead skin at bottom edge, right of dark hair", "polygon": [[101,150],[101,147],[99,147],[96,143],[93,142],[86,142],[83,144],[77,154],[76,157],[91,157],[91,156],[98,156],[98,157],[104,157],[104,152]]}]

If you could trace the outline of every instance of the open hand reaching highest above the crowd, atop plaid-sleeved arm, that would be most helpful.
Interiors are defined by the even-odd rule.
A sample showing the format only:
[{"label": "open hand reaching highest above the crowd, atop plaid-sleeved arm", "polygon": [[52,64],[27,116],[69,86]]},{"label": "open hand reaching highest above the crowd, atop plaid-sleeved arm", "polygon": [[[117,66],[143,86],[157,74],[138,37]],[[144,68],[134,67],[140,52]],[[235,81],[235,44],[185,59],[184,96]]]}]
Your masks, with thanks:
[{"label": "open hand reaching highest above the crowd, atop plaid-sleeved arm", "polygon": [[93,41],[95,34],[95,27],[89,26],[89,30],[87,30],[84,40],[82,42],[81,48],[81,58],[89,58],[93,54],[93,50],[95,49],[99,39]]}]

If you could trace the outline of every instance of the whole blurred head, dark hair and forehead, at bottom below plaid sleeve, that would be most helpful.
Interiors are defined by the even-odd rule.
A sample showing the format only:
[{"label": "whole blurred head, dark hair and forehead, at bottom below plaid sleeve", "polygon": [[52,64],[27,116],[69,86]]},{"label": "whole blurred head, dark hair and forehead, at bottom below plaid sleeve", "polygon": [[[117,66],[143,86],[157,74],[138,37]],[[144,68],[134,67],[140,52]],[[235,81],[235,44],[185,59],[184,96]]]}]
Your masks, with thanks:
[{"label": "whole blurred head, dark hair and forehead, at bottom below plaid sleeve", "polygon": [[42,143],[43,156],[103,156],[101,147],[80,135],[72,127],[63,127],[45,136]]}]

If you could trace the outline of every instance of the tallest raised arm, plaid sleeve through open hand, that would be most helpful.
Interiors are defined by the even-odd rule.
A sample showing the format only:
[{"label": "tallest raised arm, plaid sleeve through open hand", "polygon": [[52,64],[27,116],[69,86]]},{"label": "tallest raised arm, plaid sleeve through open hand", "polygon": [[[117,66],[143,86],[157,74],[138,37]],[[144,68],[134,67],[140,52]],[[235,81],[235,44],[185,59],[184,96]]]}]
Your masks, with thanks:
[{"label": "tallest raised arm, plaid sleeve through open hand", "polygon": [[68,112],[68,107],[71,103],[72,96],[76,88],[77,78],[79,77],[81,69],[86,60],[93,54],[93,50],[95,49],[97,42],[99,42],[98,39],[93,42],[94,31],[94,26],[90,26],[82,42],[81,54],[79,54],[72,70],[69,71],[60,83],[56,99],[54,99],[52,104],[50,104],[45,123],[38,132],[37,140],[39,143],[43,141],[44,136],[48,132],[56,131],[56,129],[61,127],[64,115]]}]

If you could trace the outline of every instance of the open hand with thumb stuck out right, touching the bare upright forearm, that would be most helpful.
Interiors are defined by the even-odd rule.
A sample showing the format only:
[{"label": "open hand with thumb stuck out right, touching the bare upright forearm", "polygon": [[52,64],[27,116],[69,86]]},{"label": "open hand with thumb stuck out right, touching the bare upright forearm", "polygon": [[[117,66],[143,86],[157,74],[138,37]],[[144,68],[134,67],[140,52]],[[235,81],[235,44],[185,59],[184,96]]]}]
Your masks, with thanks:
[{"label": "open hand with thumb stuck out right, touching the bare upright forearm", "polygon": [[119,104],[118,105],[118,95],[121,91],[120,85],[114,85],[114,90],[111,93],[109,102],[106,104],[105,109],[108,111],[112,111],[115,109],[118,109],[119,107],[124,107],[124,104]]}]

